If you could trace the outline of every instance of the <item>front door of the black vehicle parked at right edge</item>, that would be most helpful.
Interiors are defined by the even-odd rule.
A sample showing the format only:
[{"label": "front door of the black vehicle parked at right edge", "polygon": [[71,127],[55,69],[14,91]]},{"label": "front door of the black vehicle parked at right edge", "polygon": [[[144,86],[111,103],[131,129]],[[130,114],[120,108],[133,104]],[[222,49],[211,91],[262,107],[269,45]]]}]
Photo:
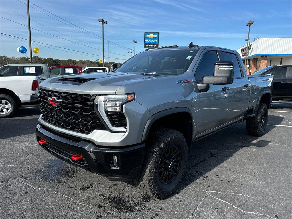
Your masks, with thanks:
[{"label": "front door of the black vehicle parked at right edge", "polygon": [[274,99],[285,99],[291,96],[291,90],[288,90],[289,68],[277,67],[267,72],[267,74],[269,73],[273,76],[272,97]]}]

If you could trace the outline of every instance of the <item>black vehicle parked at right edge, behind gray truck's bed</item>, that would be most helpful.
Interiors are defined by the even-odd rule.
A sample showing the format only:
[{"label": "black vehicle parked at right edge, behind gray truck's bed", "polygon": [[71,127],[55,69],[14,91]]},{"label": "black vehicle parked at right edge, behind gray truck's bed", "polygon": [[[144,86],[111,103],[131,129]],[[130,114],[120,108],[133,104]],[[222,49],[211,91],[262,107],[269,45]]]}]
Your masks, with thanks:
[{"label": "black vehicle parked at right edge, behind gray truck's bed", "polygon": [[292,65],[268,66],[252,74],[256,75],[272,75],[274,100],[292,100]]}]

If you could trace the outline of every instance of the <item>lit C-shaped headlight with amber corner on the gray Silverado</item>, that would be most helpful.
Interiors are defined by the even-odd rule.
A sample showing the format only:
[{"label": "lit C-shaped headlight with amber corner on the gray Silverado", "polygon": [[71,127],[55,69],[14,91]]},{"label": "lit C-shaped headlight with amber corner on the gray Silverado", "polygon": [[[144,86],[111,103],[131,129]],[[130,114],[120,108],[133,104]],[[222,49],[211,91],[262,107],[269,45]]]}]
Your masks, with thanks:
[{"label": "lit C-shaped headlight with amber corner on the gray Silverado", "polygon": [[112,124],[111,121],[109,121],[108,115],[111,114],[118,114],[118,115],[124,115],[123,114],[123,105],[126,102],[129,102],[131,100],[135,99],[135,94],[117,94],[117,95],[103,95],[103,96],[96,96],[94,103],[95,103],[95,109],[98,110],[100,116],[102,117],[103,121],[106,123],[107,127],[109,127],[112,131],[118,131],[118,132],[125,132],[126,128],[124,127],[117,127],[117,125]]}]

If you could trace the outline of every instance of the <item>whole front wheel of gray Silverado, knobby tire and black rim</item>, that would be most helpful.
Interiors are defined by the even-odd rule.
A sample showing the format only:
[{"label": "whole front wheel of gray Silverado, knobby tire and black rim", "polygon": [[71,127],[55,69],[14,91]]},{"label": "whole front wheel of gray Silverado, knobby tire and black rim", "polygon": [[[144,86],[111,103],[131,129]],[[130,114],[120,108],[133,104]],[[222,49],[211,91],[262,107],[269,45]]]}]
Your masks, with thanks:
[{"label": "whole front wheel of gray Silverado, knobby tire and black rim", "polygon": [[144,164],[134,181],[143,193],[163,199],[172,194],[183,179],[187,142],[178,131],[157,128],[150,133],[146,147]]}]

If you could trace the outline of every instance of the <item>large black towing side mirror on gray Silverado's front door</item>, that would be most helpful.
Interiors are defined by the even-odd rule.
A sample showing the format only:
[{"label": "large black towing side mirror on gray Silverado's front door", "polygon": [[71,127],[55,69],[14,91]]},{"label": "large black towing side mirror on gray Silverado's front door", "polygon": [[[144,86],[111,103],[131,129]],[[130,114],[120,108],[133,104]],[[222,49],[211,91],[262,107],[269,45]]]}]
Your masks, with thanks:
[{"label": "large black towing side mirror on gray Silverado's front door", "polygon": [[202,84],[232,84],[234,64],[231,61],[215,62],[213,77],[202,77]]}]

